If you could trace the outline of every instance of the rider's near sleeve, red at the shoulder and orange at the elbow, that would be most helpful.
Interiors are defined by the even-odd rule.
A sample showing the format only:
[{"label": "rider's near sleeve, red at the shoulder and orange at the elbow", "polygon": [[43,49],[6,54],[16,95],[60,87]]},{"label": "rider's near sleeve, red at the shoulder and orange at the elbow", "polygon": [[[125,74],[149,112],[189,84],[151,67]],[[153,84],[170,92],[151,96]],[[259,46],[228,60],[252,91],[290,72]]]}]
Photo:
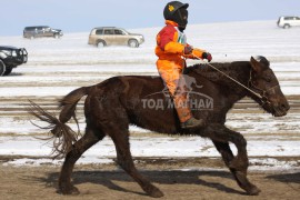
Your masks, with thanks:
[{"label": "rider's near sleeve, red at the shoulder and orange at the elbow", "polygon": [[183,54],[184,46],[177,42],[177,30],[167,26],[157,37],[158,47],[164,52]]}]

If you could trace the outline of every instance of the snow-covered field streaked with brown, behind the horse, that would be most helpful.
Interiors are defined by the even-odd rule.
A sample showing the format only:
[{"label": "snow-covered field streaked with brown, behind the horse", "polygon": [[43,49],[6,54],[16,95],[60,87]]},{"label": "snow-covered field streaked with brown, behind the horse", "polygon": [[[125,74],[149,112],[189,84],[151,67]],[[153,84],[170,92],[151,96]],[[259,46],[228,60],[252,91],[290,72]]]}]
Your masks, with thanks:
[{"label": "snow-covered field streaked with brown, behind the horse", "polygon": [[[98,83],[113,76],[156,76],[153,49],[159,30],[130,30],[146,38],[146,42],[137,49],[97,49],[87,44],[88,31],[64,33],[59,40],[28,40],[21,36],[0,38],[1,46],[24,47],[29,52],[27,64],[14,69],[9,77],[0,77],[0,156],[16,157],[2,164],[60,163],[61,160],[47,158],[51,152],[51,142],[36,138],[47,137],[48,132],[30,123],[34,119],[24,110],[28,99],[53,110],[57,99],[78,87]],[[290,101],[290,112],[286,117],[273,118],[249,102],[250,109],[233,109],[228,114],[227,126],[240,131],[248,140],[250,169],[300,170],[300,28],[284,30],[277,28],[274,21],[249,21],[192,24],[186,32],[190,44],[212,53],[213,62],[250,60],[251,56],[264,56],[270,60]],[[78,117],[82,132],[82,109],[79,109]],[[74,124],[71,126],[76,129]],[[207,139],[169,137],[137,127],[130,130],[133,157],[220,157]],[[108,163],[112,162],[116,151],[112,141],[106,138],[83,156],[78,163]],[[298,159],[279,161],[277,157]]]}]

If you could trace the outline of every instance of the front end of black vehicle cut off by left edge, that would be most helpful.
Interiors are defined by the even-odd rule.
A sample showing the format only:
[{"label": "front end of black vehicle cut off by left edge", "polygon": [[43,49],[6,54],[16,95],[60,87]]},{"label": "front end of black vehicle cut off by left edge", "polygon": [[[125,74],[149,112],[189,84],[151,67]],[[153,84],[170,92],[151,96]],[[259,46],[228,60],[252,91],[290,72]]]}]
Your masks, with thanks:
[{"label": "front end of black vehicle cut off by left edge", "polygon": [[0,76],[8,76],[13,68],[26,63],[28,53],[24,48],[0,46]]}]

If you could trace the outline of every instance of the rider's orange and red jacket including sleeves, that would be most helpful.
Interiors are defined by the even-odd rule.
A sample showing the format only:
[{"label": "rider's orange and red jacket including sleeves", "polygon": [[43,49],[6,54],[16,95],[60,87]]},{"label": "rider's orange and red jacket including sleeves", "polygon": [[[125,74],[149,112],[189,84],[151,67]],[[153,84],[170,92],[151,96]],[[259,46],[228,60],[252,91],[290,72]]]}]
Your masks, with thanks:
[{"label": "rider's orange and red jacket including sleeves", "polygon": [[186,34],[178,30],[178,23],[166,20],[166,27],[157,36],[156,54],[159,57],[158,69],[169,69],[176,64],[176,68],[183,69],[184,58],[196,59],[192,54],[202,58],[204,50],[193,49],[192,54],[184,54],[183,50],[187,43]]}]

